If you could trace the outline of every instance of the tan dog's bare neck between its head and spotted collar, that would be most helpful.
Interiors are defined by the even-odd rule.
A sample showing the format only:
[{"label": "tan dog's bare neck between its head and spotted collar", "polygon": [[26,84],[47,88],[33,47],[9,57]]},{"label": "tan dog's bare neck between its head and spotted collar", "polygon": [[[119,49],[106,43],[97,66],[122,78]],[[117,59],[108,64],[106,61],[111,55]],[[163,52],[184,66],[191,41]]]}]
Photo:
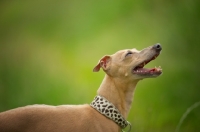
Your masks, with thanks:
[{"label": "tan dog's bare neck between its head and spotted collar", "polygon": [[106,75],[97,93],[114,104],[126,119],[131,108],[137,82]]}]

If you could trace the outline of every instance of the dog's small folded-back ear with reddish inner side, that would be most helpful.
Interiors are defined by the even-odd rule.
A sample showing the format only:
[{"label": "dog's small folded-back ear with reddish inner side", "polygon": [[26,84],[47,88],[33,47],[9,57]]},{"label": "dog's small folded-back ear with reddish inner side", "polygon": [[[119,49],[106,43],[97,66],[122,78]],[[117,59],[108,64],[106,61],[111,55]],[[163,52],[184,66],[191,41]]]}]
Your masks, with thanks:
[{"label": "dog's small folded-back ear with reddish inner side", "polygon": [[103,58],[99,60],[99,63],[94,67],[93,72],[98,72],[100,68],[102,68],[104,71],[106,71],[109,67],[110,62],[110,56],[106,55]]}]

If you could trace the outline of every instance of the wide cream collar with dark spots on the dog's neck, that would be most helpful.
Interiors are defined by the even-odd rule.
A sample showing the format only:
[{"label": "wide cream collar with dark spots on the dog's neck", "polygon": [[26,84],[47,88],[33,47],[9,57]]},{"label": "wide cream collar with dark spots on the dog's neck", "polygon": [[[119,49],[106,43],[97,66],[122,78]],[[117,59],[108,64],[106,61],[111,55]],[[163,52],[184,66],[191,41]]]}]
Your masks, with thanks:
[{"label": "wide cream collar with dark spots on the dog's neck", "polygon": [[119,110],[106,98],[100,95],[97,95],[92,101],[92,103],[90,104],[90,106],[96,109],[102,115],[113,120],[122,129],[129,125],[130,126],[129,131],[131,130],[131,124],[124,119],[124,117],[121,115]]}]

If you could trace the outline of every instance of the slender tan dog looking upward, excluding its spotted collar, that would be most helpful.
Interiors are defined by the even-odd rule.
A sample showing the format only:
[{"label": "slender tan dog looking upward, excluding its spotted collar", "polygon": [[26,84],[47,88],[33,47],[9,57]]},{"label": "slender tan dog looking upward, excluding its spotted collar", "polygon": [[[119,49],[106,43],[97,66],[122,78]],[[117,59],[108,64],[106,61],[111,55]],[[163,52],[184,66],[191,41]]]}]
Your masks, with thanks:
[{"label": "slender tan dog looking upward, excluding its spotted collar", "polygon": [[[102,68],[106,75],[98,95],[106,98],[127,118],[135,86],[139,80],[157,77],[160,68],[146,69],[145,64],[155,59],[159,44],[141,51],[120,50],[104,56],[94,68]],[[119,132],[121,127],[88,104],[85,105],[31,105],[0,113],[0,132]]]}]

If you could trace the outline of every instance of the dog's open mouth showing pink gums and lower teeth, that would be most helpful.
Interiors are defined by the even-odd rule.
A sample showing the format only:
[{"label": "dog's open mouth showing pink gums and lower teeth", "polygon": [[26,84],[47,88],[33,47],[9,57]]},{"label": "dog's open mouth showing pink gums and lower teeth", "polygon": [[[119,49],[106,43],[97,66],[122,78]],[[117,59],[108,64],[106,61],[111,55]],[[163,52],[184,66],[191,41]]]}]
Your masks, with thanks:
[{"label": "dog's open mouth showing pink gums and lower teeth", "polygon": [[159,54],[156,54],[155,56],[153,56],[151,59],[149,60],[145,60],[143,61],[142,63],[140,63],[138,66],[136,66],[134,69],[133,69],[133,73],[134,74],[138,74],[138,75],[147,75],[147,76],[154,76],[154,75],[160,75],[162,73],[162,69],[161,67],[155,67],[155,68],[143,68],[146,64],[148,64],[150,61],[156,59],[156,57],[158,56]]}]

